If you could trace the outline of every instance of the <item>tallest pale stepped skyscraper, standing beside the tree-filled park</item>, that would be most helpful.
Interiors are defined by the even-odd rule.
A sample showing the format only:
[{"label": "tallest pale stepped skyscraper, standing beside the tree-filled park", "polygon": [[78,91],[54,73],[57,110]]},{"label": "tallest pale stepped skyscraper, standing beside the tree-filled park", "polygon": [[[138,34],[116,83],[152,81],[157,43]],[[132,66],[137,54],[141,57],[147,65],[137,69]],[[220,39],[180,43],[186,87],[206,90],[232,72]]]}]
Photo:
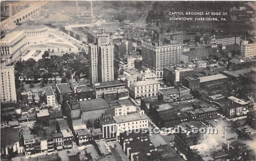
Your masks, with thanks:
[{"label": "tallest pale stepped skyscraper, standing beside the tree-filled park", "polygon": [[106,29],[88,33],[90,83],[114,80],[114,45]]}]

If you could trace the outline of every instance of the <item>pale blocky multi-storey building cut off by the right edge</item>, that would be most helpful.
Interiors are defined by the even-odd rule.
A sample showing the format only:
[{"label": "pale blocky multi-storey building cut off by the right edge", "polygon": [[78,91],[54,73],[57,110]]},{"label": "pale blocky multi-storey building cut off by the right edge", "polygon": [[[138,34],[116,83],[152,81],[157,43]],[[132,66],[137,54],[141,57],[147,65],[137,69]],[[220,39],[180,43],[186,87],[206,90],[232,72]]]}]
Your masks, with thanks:
[{"label": "pale blocky multi-storey building cut off by the right edge", "polygon": [[248,58],[256,56],[256,43],[249,44],[248,41],[243,41],[241,44],[241,55]]}]

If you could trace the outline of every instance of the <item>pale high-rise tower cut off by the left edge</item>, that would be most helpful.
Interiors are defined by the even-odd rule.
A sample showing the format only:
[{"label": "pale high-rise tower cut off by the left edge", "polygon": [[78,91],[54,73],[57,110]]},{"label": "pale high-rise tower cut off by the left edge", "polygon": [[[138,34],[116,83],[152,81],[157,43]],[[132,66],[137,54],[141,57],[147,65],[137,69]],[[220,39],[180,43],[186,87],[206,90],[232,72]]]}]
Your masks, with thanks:
[{"label": "pale high-rise tower cut off by the left edge", "polygon": [[1,64],[1,102],[16,102],[16,89],[13,66]]}]

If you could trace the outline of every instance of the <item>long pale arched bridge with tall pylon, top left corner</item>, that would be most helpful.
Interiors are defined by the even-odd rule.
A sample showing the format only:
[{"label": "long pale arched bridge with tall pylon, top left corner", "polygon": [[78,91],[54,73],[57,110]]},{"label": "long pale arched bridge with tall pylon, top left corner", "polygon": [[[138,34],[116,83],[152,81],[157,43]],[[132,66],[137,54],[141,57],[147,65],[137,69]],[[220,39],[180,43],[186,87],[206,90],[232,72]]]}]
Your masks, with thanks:
[{"label": "long pale arched bridge with tall pylon, top left corner", "polygon": [[15,15],[12,15],[12,4],[9,5],[9,18],[5,19],[4,21],[1,21],[1,31],[9,32],[10,30],[16,28],[16,24],[19,22],[22,22],[32,16],[33,14],[39,13],[41,11],[44,4],[48,3],[48,1],[40,1],[37,2],[28,8],[16,13]]}]

